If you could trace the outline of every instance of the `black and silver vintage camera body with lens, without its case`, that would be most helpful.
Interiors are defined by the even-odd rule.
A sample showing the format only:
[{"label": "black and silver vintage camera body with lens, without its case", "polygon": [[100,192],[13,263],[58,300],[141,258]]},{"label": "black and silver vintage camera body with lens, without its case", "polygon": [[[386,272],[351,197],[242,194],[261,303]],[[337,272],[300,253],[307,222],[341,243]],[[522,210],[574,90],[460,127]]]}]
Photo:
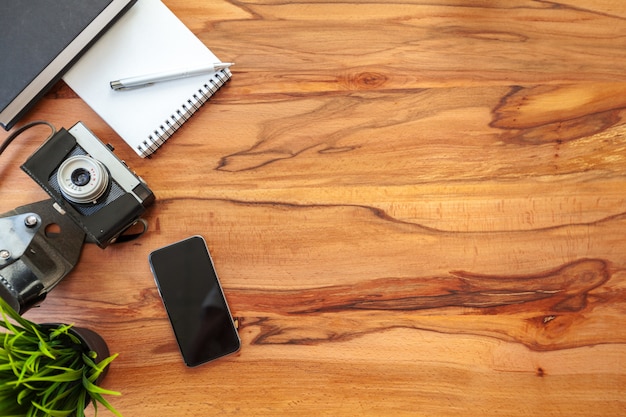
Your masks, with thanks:
[{"label": "black and silver vintage camera body with lens, without its case", "polygon": [[147,184],[81,122],[53,135],[21,168],[101,248],[155,200]]}]

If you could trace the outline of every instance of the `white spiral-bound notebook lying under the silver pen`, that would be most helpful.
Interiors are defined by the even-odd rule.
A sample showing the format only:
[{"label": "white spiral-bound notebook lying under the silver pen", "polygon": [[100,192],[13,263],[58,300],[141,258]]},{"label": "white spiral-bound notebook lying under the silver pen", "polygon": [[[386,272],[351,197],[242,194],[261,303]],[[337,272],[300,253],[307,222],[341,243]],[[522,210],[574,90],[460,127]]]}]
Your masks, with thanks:
[{"label": "white spiral-bound notebook lying under the silver pen", "polygon": [[159,0],[137,3],[63,80],[142,158],[154,153],[226,83],[231,72],[114,91],[112,80],[221,62]]}]

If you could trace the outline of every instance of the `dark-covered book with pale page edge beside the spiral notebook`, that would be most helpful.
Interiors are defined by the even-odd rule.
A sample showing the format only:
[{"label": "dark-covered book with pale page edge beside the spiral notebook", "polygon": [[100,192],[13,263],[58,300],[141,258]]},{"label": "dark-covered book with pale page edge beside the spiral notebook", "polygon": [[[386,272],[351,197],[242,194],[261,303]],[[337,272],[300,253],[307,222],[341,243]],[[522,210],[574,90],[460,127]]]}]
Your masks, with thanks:
[{"label": "dark-covered book with pale page edge beside the spiral notebook", "polygon": [[15,125],[135,1],[1,1],[0,125]]}]

